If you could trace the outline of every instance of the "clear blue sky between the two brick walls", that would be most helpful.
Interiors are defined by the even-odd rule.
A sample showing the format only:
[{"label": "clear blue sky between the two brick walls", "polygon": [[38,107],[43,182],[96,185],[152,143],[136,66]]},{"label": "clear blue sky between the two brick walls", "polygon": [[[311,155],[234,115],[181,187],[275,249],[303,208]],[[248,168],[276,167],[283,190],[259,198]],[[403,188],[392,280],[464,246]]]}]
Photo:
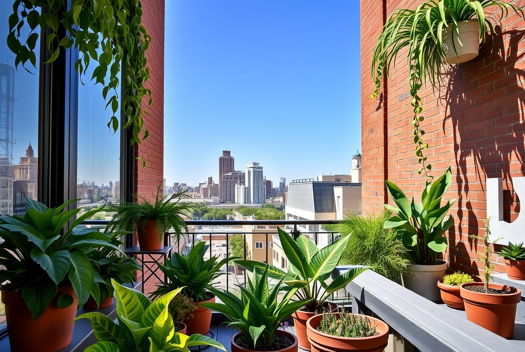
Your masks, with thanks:
[{"label": "clear blue sky between the two brick walls", "polygon": [[170,0],[164,177],[195,185],[232,151],[278,184],[349,173],[361,150],[357,0]]}]

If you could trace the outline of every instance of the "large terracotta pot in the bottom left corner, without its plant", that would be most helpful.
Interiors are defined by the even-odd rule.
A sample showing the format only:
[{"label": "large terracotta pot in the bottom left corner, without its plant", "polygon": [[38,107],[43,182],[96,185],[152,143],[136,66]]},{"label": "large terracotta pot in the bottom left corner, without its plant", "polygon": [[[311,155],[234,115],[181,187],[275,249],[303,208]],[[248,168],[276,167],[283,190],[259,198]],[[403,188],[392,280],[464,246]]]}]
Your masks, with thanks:
[{"label": "large terracotta pot in the bottom left corner, without its plant", "polygon": [[73,296],[73,303],[62,309],[55,297],[34,321],[21,292],[2,290],[12,352],[55,352],[69,345],[75,326],[72,320],[77,315],[77,296],[71,285],[59,288],[58,292]]}]

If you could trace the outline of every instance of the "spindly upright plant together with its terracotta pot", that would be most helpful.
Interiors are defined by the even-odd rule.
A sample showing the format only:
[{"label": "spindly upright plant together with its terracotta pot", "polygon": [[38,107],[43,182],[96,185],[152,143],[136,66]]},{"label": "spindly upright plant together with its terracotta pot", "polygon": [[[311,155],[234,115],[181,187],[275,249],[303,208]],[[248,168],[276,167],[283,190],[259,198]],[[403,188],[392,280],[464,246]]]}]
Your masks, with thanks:
[{"label": "spindly upright plant together with its terracotta pot", "polygon": [[512,338],[516,306],[521,302],[521,291],[515,287],[490,283],[494,265],[490,261],[489,228],[490,218],[485,223],[485,235],[470,235],[475,240],[483,241],[485,250],[479,254],[483,263],[484,282],[462,283],[459,287],[461,298],[465,302],[467,319],[504,338]]}]

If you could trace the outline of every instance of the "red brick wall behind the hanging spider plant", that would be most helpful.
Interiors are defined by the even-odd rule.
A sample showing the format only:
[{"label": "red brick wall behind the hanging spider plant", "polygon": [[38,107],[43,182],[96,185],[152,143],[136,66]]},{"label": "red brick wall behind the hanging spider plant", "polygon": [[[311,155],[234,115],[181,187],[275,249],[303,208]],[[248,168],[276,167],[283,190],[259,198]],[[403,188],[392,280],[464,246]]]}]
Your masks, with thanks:
[{"label": "red brick wall behind the hanging spider plant", "polygon": [[[395,8],[415,8],[419,3],[361,0],[364,213],[382,210],[385,178],[408,196],[421,196],[425,185],[425,178],[417,174],[419,164],[410,124],[413,115],[404,57],[396,61],[383,94],[375,100],[370,98],[374,90],[371,56],[384,20],[381,14],[388,15]],[[513,3],[525,5],[523,0]],[[525,21],[519,16],[509,15],[480,48],[477,58],[447,68],[440,92],[433,92],[430,87],[419,92],[425,116],[424,137],[430,146],[425,155],[433,164],[436,177],[449,166],[453,173],[446,199],[456,198],[457,202],[451,211],[454,225],[448,233],[450,247],[446,257],[449,256],[450,268],[454,270],[478,273],[476,250],[483,248],[475,246],[468,235],[484,234],[487,178],[503,178],[505,219],[512,221],[519,213],[520,204],[511,180],[525,174],[524,26]],[[503,265],[497,265],[496,270],[504,271]]]}]

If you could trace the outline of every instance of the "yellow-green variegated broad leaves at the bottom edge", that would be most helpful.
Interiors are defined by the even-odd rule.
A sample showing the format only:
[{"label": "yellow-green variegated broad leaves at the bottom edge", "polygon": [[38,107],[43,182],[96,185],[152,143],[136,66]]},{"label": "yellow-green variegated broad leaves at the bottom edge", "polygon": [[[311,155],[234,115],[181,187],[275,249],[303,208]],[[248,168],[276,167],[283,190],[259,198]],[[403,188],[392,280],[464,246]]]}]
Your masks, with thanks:
[{"label": "yellow-green variegated broad leaves at the bottom edge", "polygon": [[85,313],[75,319],[91,320],[98,339],[84,352],[189,352],[191,346],[213,346],[226,351],[222,344],[207,336],[175,332],[168,306],[181,289],[150,302],[139,291],[114,280],[112,284],[117,300],[117,322],[98,312]]}]

